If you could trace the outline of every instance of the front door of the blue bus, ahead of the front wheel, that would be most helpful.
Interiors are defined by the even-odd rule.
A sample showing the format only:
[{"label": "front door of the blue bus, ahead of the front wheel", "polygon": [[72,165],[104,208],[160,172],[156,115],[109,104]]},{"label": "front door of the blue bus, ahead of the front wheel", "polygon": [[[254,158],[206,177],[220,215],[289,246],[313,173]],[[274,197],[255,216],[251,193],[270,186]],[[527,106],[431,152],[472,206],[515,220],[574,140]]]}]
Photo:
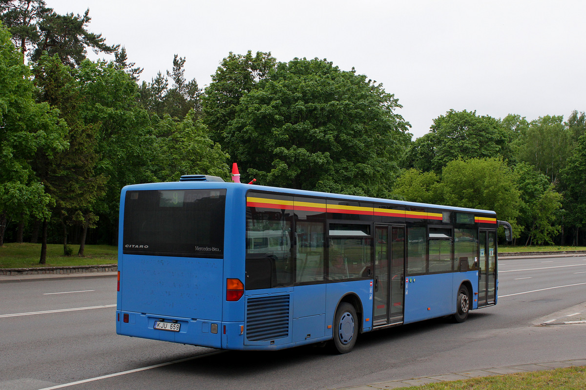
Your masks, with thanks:
[{"label": "front door of the blue bus, ahead of the front wheel", "polygon": [[478,307],[496,302],[496,231],[481,230],[478,271]]}]

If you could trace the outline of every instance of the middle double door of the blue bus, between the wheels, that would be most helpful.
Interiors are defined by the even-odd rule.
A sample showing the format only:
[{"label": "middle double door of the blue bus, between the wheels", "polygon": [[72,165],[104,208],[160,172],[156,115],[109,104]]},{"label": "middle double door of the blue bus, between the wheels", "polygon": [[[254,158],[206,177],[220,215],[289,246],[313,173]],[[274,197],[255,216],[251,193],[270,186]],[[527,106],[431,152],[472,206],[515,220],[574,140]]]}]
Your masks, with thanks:
[{"label": "middle double door of the blue bus, between the wheels", "polygon": [[376,225],[373,326],[403,323],[405,227]]}]

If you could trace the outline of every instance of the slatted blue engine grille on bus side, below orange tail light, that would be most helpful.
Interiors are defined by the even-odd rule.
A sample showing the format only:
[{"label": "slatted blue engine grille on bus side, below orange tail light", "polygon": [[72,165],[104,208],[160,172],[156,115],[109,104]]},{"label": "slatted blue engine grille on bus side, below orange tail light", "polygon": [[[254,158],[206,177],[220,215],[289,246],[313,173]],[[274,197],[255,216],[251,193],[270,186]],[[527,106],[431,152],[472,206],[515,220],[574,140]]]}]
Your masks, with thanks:
[{"label": "slatted blue engine grille on bus side, below orange tail light", "polygon": [[289,336],[289,295],[249,298],[246,339],[268,341]]}]

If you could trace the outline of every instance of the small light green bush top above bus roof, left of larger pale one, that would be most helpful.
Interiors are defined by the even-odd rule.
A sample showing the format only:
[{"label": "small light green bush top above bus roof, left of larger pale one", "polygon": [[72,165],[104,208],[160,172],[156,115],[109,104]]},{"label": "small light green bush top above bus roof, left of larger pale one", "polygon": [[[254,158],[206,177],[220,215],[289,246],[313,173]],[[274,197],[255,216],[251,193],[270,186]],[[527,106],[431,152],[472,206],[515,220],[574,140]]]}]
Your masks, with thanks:
[{"label": "small light green bush top above bus roof, left of larger pale one", "polygon": [[391,190],[393,199],[420,203],[441,203],[438,194],[440,178],[434,172],[421,172],[411,168],[401,172]]}]

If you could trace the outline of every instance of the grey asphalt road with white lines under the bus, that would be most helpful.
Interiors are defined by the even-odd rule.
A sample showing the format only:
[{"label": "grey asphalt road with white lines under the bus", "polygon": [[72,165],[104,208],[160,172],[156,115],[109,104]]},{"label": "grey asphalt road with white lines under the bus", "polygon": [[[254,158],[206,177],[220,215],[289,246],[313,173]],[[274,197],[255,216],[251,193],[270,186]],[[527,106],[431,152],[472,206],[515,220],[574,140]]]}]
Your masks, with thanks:
[{"label": "grey asphalt road with white lines under the bus", "polygon": [[217,351],[118,336],[115,285],[115,278],[0,284],[0,390],[326,389],[586,357],[586,325],[536,326],[586,311],[585,256],[501,259],[498,305],[462,324],[436,319],[361,334],[342,356],[316,347]]}]

